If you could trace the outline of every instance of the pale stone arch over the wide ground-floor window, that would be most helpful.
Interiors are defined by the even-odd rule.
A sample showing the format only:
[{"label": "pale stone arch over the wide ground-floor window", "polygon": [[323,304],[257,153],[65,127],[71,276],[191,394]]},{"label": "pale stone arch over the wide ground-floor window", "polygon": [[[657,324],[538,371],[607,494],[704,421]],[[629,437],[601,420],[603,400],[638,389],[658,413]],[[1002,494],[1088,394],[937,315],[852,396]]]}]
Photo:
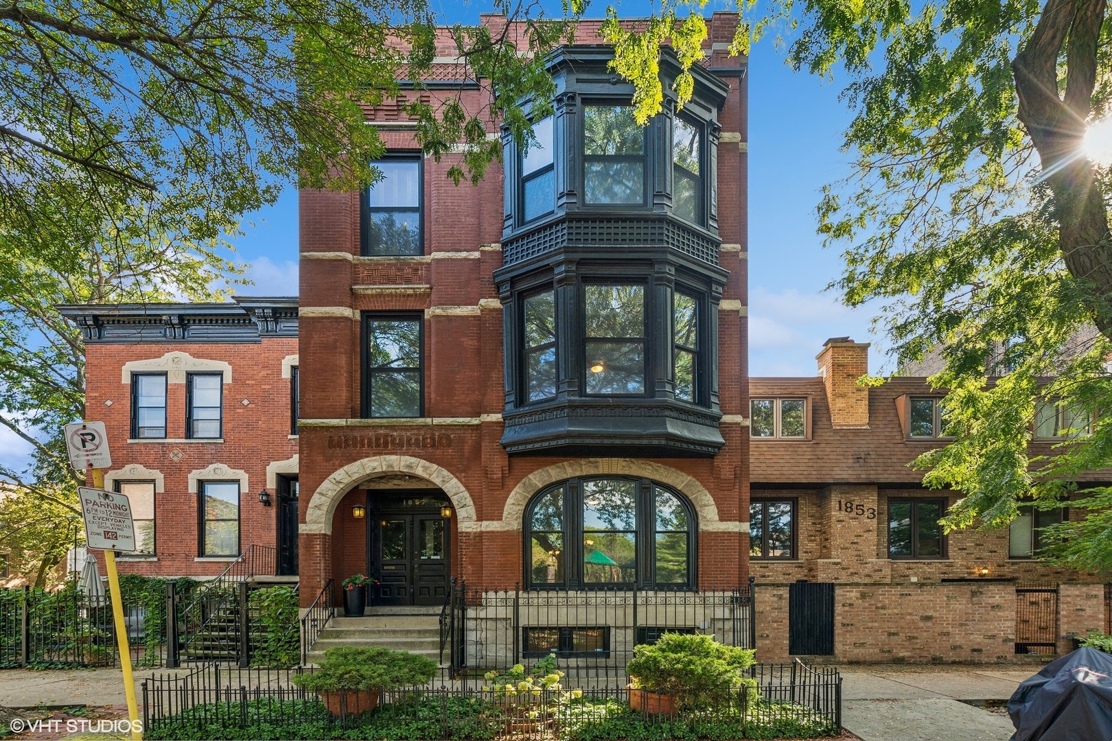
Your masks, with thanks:
[{"label": "pale stone arch over the wide ground-floor window", "polygon": [[[636,475],[652,479],[672,487],[681,492],[692,503],[698,517],[698,529],[702,532],[741,532],[742,522],[728,522],[718,519],[718,507],[714,503],[711,492],[698,481],[683,471],[655,463],[653,461],[633,458],[585,458],[566,463],[556,463],[548,468],[534,471],[522,479],[509,492],[506,507],[502,511],[500,522],[484,522],[484,530],[520,530],[525,507],[538,491],[548,484],[580,475]],[[495,525],[495,527],[490,527]]]}]

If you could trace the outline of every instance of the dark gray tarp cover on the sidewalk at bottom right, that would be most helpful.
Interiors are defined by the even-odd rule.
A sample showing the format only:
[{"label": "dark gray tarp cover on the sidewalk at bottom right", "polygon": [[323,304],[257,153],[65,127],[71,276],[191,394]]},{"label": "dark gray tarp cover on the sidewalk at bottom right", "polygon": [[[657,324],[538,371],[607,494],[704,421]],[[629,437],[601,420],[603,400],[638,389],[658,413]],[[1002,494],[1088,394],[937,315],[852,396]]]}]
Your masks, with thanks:
[{"label": "dark gray tarp cover on the sidewalk at bottom right", "polygon": [[1112,740],[1112,655],[1081,648],[1026,679],[1007,701],[1011,741]]}]

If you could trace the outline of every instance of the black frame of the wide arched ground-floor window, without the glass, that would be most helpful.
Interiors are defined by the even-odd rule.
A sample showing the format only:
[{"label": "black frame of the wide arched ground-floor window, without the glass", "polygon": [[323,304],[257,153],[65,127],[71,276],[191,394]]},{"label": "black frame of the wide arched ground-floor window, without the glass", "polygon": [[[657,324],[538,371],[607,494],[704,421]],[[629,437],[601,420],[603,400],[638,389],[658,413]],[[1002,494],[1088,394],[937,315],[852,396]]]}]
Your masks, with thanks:
[{"label": "black frame of the wide arched ground-floor window, without the glass", "polygon": [[[637,484],[635,494],[636,569],[633,582],[587,582],[584,580],[584,538],[583,525],[583,483],[587,481],[634,481]],[[564,579],[562,582],[533,581],[533,514],[538,502],[554,491],[563,491],[563,528],[560,533],[564,542],[562,553],[564,560]],[[687,573],[685,582],[657,583],[656,581],[656,534],[664,531],[656,528],[656,491],[663,490],[674,497],[687,519]],[[557,532],[538,530],[538,532]],[[574,477],[544,487],[526,503],[522,514],[522,564],[524,583],[532,591],[550,591],[565,589],[583,589],[590,591],[614,589],[654,589],[657,591],[693,591],[698,584],[698,517],[694,504],[685,494],[673,487],[662,484],[647,478],[627,475],[592,474]]]}]

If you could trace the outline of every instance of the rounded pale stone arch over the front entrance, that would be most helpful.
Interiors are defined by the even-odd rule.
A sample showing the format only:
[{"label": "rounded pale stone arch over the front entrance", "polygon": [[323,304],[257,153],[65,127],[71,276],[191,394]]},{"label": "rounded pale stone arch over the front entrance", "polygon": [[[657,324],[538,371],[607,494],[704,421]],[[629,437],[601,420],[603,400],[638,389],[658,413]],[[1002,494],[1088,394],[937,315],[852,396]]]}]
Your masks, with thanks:
[{"label": "rounded pale stone arch over the front entrance", "polygon": [[478,530],[475,502],[451,473],[436,463],[409,455],[375,455],[348,463],[321,482],[309,500],[300,532],[332,532],[332,514],[344,495],[371,479],[391,473],[407,473],[436,484],[451,500],[460,531]]}]

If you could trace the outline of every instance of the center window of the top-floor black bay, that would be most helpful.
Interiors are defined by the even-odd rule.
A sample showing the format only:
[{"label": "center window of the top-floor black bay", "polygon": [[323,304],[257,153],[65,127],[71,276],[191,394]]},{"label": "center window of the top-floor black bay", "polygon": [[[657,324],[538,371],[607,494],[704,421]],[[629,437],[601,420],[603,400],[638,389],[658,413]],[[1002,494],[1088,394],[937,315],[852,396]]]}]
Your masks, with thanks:
[{"label": "center window of the top-floor black bay", "polygon": [[587,106],[583,119],[586,203],[645,202],[645,131],[628,106]]}]

